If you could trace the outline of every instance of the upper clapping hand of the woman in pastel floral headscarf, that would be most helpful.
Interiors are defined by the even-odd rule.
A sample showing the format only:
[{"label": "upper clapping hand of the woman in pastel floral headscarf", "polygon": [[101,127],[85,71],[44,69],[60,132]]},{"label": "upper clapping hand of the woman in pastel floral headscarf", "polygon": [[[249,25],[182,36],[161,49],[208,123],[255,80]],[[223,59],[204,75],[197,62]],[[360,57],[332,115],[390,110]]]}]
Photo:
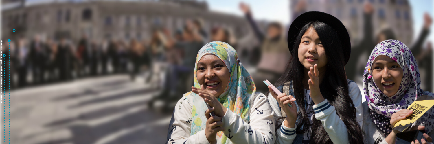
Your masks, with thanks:
[{"label": "upper clapping hand of the woman in pastel floral headscarf", "polygon": [[215,109],[214,114],[216,116],[223,117],[226,114],[227,108],[212,93],[205,91],[204,85],[201,85],[201,89],[191,86],[191,91],[204,98],[205,102]]}]

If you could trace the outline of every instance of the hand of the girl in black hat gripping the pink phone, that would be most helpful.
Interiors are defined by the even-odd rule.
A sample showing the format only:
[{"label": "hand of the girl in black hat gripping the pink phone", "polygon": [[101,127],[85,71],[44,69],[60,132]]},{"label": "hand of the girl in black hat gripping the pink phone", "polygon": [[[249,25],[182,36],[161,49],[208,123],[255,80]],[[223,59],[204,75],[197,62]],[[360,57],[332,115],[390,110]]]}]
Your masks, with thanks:
[{"label": "hand of the girl in black hat gripping the pink phone", "polygon": [[[297,119],[297,107],[293,105],[293,102],[296,100],[293,96],[286,96],[286,93],[282,93],[277,95],[271,90],[271,86],[268,86],[268,90],[270,91],[271,96],[277,100],[280,108],[283,109],[283,112],[286,113],[286,121],[283,123],[288,128],[294,128]],[[288,104],[291,104],[292,107],[289,107]]]}]

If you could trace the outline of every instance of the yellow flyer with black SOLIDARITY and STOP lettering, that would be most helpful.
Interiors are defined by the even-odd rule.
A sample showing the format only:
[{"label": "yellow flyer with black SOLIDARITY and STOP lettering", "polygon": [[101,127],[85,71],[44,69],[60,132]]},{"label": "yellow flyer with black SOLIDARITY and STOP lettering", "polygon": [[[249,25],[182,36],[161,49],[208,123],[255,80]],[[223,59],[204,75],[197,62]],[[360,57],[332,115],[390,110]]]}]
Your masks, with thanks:
[{"label": "yellow flyer with black SOLIDARITY and STOP lettering", "polygon": [[434,106],[434,98],[427,95],[422,95],[418,99],[416,99],[407,109],[412,110],[413,114],[408,116],[407,118],[396,122],[393,130],[398,130],[403,132],[407,130],[418,118],[424,115],[425,112],[428,111],[432,106]]}]

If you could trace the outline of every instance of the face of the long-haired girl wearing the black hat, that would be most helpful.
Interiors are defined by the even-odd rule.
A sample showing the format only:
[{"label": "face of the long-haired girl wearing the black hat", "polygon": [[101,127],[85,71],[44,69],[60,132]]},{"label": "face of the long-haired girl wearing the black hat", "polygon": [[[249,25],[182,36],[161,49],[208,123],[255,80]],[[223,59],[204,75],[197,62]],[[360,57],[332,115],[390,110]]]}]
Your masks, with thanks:
[{"label": "face of the long-haired girl wearing the black hat", "polygon": [[318,33],[316,33],[315,29],[312,27],[307,29],[301,38],[298,48],[298,57],[300,63],[303,64],[306,69],[317,64],[318,69],[321,71],[321,68],[324,68],[327,64],[324,47],[319,40]]}]

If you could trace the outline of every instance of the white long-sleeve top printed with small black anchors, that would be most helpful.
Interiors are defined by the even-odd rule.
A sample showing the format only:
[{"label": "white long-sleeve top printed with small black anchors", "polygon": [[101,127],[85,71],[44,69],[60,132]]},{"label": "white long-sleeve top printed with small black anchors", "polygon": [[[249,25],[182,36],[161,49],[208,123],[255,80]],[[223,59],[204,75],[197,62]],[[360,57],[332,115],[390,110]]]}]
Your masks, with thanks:
[{"label": "white long-sleeve top printed with small black anchors", "polygon": [[[191,135],[192,106],[183,99],[184,96],[178,100],[173,111],[167,144],[209,144],[204,130]],[[227,141],[233,144],[274,144],[276,128],[270,102],[262,93],[255,93],[251,99],[248,122],[244,122],[239,115],[227,109],[222,118]]]}]

